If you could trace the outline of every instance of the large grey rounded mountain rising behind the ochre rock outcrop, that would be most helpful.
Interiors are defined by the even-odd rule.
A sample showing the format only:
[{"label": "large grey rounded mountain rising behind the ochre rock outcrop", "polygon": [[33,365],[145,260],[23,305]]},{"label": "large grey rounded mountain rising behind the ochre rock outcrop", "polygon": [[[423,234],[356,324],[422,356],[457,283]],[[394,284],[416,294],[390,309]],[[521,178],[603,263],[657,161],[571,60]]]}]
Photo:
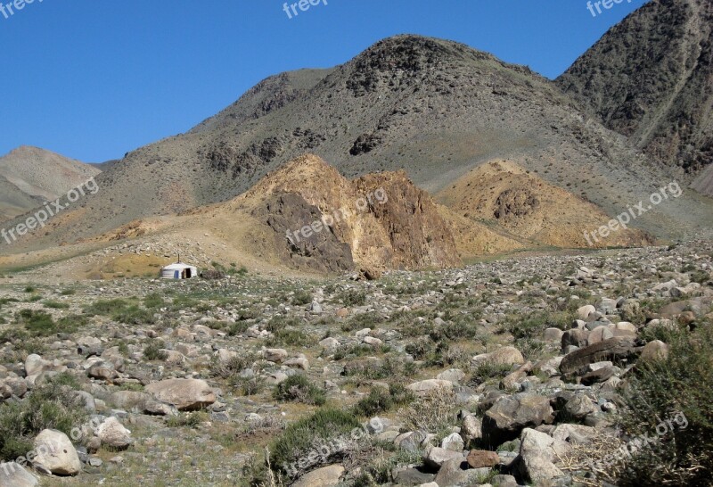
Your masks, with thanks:
[{"label": "large grey rounded mountain rising behind the ochre rock outcrop", "polygon": [[[510,161],[610,217],[676,177],[528,68],[455,42],[397,36],[332,70],[267,78],[188,133],[127,153],[96,178],[97,194],[48,224],[46,235],[14,248],[91,239],[136,220],[227,202],[304,153],[347,178],[404,170],[431,194],[471,169]],[[497,222],[487,238],[473,239],[471,219],[457,211],[444,218],[470,252],[533,244]],[[679,238],[711,223],[709,200],[684,192],[632,225]]]}]

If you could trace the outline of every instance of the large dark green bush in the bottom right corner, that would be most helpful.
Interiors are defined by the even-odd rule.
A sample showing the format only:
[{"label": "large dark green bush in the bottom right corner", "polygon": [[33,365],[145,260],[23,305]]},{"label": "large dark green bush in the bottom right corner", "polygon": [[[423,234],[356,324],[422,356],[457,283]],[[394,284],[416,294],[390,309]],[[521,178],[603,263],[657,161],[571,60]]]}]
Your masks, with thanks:
[{"label": "large dark green bush in the bottom right corner", "polygon": [[[713,478],[713,326],[668,333],[668,359],[642,361],[629,379],[622,426],[648,433],[682,413],[687,427],[669,428],[619,469],[619,485],[708,485]],[[671,431],[673,429],[673,431]]]}]

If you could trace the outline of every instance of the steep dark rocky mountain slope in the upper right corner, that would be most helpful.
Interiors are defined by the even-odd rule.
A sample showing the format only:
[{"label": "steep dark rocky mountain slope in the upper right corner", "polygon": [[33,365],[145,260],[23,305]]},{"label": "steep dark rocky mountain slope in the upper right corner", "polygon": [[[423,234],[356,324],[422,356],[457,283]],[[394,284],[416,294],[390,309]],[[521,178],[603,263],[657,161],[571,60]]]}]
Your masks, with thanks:
[{"label": "steep dark rocky mountain slope in the upper right corner", "polygon": [[697,174],[713,162],[711,32],[710,0],[652,0],[556,82],[652,158]]}]

